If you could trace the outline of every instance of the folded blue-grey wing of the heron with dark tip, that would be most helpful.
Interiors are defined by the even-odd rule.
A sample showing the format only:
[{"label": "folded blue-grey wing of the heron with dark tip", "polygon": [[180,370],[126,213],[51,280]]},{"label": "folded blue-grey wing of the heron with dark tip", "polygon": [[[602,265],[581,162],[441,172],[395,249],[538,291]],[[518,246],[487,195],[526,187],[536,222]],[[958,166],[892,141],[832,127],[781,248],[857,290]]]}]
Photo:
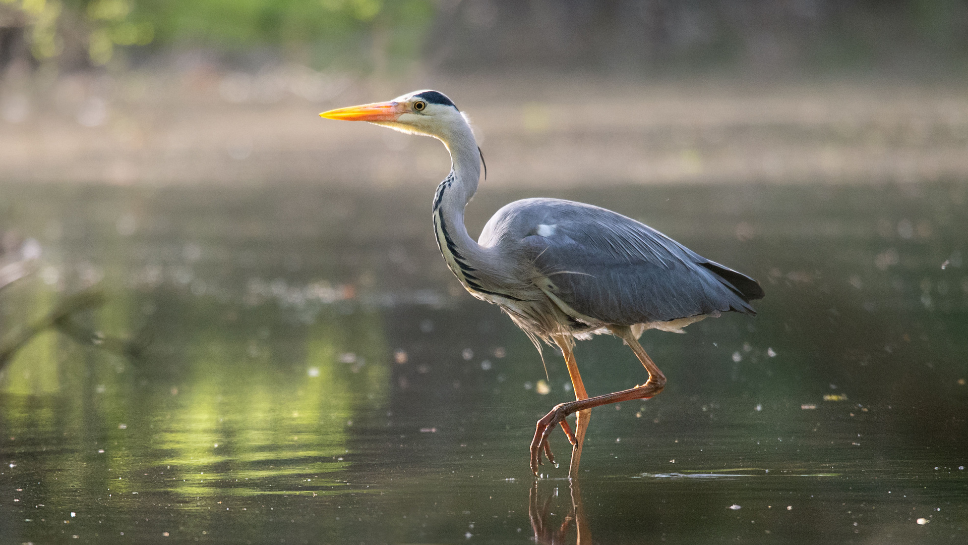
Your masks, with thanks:
[{"label": "folded blue-grey wing of the heron with dark tip", "polygon": [[756,313],[749,302],[761,299],[763,289],[749,276],[617,212],[532,201],[544,203],[525,207],[532,208],[525,223],[534,227],[522,241],[555,295],[578,312],[616,325]]}]

